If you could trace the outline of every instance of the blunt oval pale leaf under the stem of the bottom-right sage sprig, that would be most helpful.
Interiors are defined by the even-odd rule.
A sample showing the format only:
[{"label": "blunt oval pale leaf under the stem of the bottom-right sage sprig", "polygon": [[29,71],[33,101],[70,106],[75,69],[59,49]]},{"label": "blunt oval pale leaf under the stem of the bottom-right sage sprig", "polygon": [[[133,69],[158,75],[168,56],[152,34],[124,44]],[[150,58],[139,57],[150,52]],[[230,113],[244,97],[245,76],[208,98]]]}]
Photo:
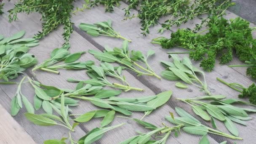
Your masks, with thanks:
[{"label": "blunt oval pale leaf under the stem of the bottom-right sage sprig", "polygon": [[196,135],[206,135],[208,133],[208,129],[205,126],[185,126],[182,130]]}]

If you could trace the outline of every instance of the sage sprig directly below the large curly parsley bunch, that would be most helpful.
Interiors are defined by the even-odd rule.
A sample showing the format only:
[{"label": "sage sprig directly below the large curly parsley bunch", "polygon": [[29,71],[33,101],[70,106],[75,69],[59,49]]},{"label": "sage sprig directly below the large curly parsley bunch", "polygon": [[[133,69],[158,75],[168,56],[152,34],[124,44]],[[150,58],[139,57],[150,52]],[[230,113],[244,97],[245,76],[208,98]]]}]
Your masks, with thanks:
[{"label": "sage sprig directly below the large curly parsley bunch", "polygon": [[[161,64],[166,68],[161,72],[163,78],[166,80],[182,80],[185,83],[201,88],[202,91],[211,95],[205,81],[205,73],[194,67],[188,57],[183,57],[182,61],[176,54],[170,54],[169,57],[173,58],[173,63],[170,61],[161,61]],[[198,78],[197,73],[203,75],[204,82]],[[186,87],[186,85],[182,87]]]}]

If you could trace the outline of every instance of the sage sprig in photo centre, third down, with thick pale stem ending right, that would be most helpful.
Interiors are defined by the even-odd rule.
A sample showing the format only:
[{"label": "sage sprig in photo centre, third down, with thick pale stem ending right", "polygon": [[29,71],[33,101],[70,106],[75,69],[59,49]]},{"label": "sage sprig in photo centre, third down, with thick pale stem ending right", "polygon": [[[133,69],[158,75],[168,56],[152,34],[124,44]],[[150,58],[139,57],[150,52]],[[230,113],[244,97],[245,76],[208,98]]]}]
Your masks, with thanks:
[{"label": "sage sprig in photo centre, third down, with thick pale stem ending right", "polygon": [[[144,91],[141,88],[131,87],[130,84],[126,81],[125,76],[122,75],[122,67],[115,67],[112,64],[107,62],[101,63],[101,67],[92,65],[91,69],[86,72],[90,80],[74,80],[69,78],[67,81],[69,82],[78,82],[78,83],[87,83],[90,85],[97,85],[97,86],[109,86],[112,88],[119,88],[124,91]],[[107,79],[107,76],[114,77],[115,79],[121,81],[123,84],[120,83],[111,83]]]}]

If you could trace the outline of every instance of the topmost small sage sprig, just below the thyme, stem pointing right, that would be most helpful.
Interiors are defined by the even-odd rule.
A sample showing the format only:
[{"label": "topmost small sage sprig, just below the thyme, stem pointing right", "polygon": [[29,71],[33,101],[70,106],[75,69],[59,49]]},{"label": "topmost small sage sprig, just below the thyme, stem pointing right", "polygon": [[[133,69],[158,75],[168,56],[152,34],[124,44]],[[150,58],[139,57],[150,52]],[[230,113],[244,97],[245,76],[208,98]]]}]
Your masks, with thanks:
[{"label": "topmost small sage sprig, just below the thyme, stem pointing right", "polygon": [[112,28],[111,20],[98,22],[96,24],[81,23],[79,24],[79,28],[85,31],[88,35],[91,35],[92,37],[98,37],[99,35],[103,35],[107,37],[120,38],[131,42],[131,40],[128,40],[127,38],[121,36],[119,32],[116,32]]}]

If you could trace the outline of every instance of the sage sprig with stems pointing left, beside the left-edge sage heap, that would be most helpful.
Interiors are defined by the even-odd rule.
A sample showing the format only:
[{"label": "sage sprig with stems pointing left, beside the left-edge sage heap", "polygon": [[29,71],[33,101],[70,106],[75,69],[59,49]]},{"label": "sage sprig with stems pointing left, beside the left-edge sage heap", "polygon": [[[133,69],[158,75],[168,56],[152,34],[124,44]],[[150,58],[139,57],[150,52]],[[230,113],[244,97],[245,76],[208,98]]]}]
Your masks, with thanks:
[{"label": "sage sprig with stems pointing left, beside the left-edge sage heap", "polygon": [[[46,72],[59,74],[58,69],[89,69],[94,64],[94,61],[77,62],[85,51],[70,53],[67,51],[68,48],[69,45],[54,49],[51,52],[51,58],[37,65],[32,71],[40,69]],[[61,61],[64,61],[64,64],[57,64]]]}]

